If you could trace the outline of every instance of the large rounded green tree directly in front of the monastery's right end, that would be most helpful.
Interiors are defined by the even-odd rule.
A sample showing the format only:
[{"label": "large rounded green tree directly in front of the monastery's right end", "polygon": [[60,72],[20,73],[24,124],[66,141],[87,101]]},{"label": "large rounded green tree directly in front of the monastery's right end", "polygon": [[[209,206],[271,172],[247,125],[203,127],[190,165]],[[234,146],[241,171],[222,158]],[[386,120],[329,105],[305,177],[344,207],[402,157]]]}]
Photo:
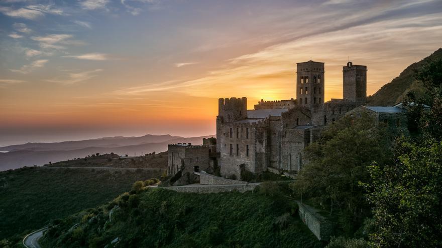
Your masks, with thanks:
[{"label": "large rounded green tree directly in front of the monastery's right end", "polygon": [[389,158],[389,138],[365,111],[347,115],[329,126],[318,142],[304,149],[308,164],[292,185],[295,193],[339,216],[341,227],[352,232],[370,209],[358,181],[370,181],[368,166]]}]

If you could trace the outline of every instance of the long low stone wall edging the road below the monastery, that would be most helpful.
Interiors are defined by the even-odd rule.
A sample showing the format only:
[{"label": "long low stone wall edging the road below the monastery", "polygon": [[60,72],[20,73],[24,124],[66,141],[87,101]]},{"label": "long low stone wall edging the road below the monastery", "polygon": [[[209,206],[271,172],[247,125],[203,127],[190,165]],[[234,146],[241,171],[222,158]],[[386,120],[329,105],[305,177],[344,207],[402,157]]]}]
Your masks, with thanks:
[{"label": "long low stone wall edging the road below the monastery", "polygon": [[249,183],[249,184],[231,184],[231,185],[201,185],[201,184],[189,184],[185,186],[171,186],[171,187],[157,187],[168,190],[174,190],[177,192],[185,193],[220,193],[220,192],[231,192],[238,191],[244,193],[246,191],[251,191],[255,189],[260,183]]}]

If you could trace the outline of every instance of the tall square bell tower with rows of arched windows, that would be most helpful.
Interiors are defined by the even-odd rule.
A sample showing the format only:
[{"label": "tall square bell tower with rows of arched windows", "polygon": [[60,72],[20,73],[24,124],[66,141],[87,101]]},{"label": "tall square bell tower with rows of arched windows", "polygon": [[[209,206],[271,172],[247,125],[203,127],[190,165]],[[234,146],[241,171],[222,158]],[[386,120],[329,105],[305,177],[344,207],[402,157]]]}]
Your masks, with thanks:
[{"label": "tall square bell tower with rows of arched windows", "polygon": [[309,109],[324,104],[324,63],[296,63],[296,101]]}]

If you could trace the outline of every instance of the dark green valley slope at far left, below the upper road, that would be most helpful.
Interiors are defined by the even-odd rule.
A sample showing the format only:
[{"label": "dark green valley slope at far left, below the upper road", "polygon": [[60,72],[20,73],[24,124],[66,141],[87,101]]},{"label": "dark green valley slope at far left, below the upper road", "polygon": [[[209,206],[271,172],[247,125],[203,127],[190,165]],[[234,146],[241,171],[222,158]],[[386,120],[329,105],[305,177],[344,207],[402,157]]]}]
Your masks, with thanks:
[{"label": "dark green valley slope at far left, below the upper road", "polygon": [[95,207],[161,171],[25,167],[0,172],[0,240],[12,243],[51,220]]}]

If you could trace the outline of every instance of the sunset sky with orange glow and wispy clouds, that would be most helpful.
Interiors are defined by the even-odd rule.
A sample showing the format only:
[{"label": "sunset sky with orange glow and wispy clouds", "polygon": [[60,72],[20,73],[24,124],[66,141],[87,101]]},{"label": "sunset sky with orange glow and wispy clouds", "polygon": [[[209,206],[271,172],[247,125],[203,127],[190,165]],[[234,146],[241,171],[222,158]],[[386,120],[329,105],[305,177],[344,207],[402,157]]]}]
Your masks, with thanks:
[{"label": "sunset sky with orange glow and wispy clouds", "polygon": [[0,146],[215,133],[217,99],[295,98],[296,63],[367,94],[442,47],[442,1],[0,0]]}]

